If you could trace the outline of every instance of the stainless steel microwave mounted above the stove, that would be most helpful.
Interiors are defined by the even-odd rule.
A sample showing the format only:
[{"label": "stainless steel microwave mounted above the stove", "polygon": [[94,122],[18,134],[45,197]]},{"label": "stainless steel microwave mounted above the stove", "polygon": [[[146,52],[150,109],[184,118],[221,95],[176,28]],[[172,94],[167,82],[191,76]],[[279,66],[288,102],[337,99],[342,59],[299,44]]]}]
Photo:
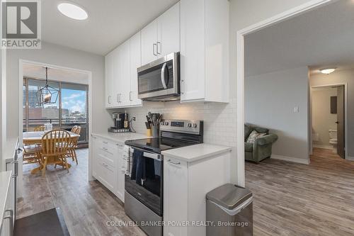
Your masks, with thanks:
[{"label": "stainless steel microwave mounted above the stove", "polygon": [[180,99],[179,52],[137,69],[138,98],[144,101]]}]

